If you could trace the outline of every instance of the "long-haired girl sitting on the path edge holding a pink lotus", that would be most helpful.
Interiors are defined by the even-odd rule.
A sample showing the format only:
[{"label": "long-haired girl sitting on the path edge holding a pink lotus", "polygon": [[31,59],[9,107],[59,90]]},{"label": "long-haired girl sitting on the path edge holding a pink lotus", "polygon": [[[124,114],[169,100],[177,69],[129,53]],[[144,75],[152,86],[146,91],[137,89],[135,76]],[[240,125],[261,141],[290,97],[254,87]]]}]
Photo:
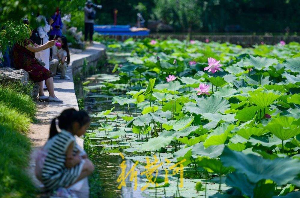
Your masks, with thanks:
[{"label": "long-haired girl sitting on the path edge holding a pink lotus", "polygon": [[67,38],[60,36],[57,38],[55,46],[52,47],[52,56],[50,54],[50,71],[52,75],[60,73],[60,79],[70,80],[67,76],[67,66],[70,63],[70,52],[68,48]]}]

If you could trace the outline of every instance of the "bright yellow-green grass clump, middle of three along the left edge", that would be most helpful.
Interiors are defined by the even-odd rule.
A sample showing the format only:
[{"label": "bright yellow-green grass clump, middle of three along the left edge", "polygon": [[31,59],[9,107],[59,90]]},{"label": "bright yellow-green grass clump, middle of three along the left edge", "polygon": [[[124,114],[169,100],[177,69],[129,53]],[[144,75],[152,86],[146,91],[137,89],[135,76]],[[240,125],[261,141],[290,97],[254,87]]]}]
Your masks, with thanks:
[{"label": "bright yellow-green grass clump, middle of three along the left edge", "polygon": [[2,126],[18,132],[27,132],[30,121],[31,120],[27,114],[19,113],[15,109],[9,108],[3,103],[0,103],[0,123]]}]

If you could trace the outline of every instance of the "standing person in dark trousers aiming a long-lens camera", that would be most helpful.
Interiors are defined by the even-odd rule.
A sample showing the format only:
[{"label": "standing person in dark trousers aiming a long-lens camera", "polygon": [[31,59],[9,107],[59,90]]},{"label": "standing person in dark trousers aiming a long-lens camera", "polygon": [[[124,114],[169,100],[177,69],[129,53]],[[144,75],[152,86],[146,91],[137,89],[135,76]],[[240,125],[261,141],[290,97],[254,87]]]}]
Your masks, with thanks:
[{"label": "standing person in dark trousers aiming a long-lens camera", "polygon": [[88,0],[84,6],[84,41],[87,41],[88,34],[90,43],[93,43],[94,34],[94,20],[96,18],[96,11],[94,8],[101,9],[102,5],[96,5]]}]

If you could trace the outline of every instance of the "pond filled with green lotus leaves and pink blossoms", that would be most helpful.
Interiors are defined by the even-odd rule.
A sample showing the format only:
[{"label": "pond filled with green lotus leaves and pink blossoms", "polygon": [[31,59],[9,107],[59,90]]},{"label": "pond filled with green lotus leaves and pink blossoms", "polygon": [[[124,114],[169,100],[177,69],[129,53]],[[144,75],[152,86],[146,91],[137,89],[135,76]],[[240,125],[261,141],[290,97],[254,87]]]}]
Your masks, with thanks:
[{"label": "pond filled with green lotus leaves and pink blossoms", "polygon": [[300,197],[300,44],[105,44],[83,82],[91,197]]}]

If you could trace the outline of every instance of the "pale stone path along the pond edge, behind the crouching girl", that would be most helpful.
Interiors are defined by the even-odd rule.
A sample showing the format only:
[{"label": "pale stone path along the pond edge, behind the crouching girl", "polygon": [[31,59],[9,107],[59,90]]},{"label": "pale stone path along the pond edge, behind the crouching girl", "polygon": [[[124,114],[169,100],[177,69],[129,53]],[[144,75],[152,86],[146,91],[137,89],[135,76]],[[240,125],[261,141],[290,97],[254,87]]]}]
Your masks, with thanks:
[{"label": "pale stone path along the pond edge, behind the crouching girl", "polygon": [[[55,102],[37,102],[37,122],[32,124],[28,137],[32,140],[32,154],[29,167],[29,173],[33,176],[33,181],[37,186],[41,183],[35,178],[35,156],[39,148],[41,148],[48,139],[49,129],[52,118],[58,116],[61,111],[66,108],[75,108],[78,110],[77,99],[74,91],[73,84],[73,72],[74,69],[80,70],[80,67],[83,64],[83,60],[87,59],[88,61],[99,59],[104,55],[105,46],[100,43],[95,43],[93,46],[87,47],[86,50],[70,50],[76,54],[70,55],[70,64],[67,68],[67,75],[70,77],[70,80],[60,80],[54,79],[54,91],[55,96],[63,100],[63,103]],[[48,92],[45,92],[47,95]],[[83,148],[83,139],[76,137],[76,142],[79,146]],[[86,183],[86,182],[85,182]],[[79,197],[88,197],[88,185],[86,183],[85,189],[81,190],[81,194],[78,194]]]}]

